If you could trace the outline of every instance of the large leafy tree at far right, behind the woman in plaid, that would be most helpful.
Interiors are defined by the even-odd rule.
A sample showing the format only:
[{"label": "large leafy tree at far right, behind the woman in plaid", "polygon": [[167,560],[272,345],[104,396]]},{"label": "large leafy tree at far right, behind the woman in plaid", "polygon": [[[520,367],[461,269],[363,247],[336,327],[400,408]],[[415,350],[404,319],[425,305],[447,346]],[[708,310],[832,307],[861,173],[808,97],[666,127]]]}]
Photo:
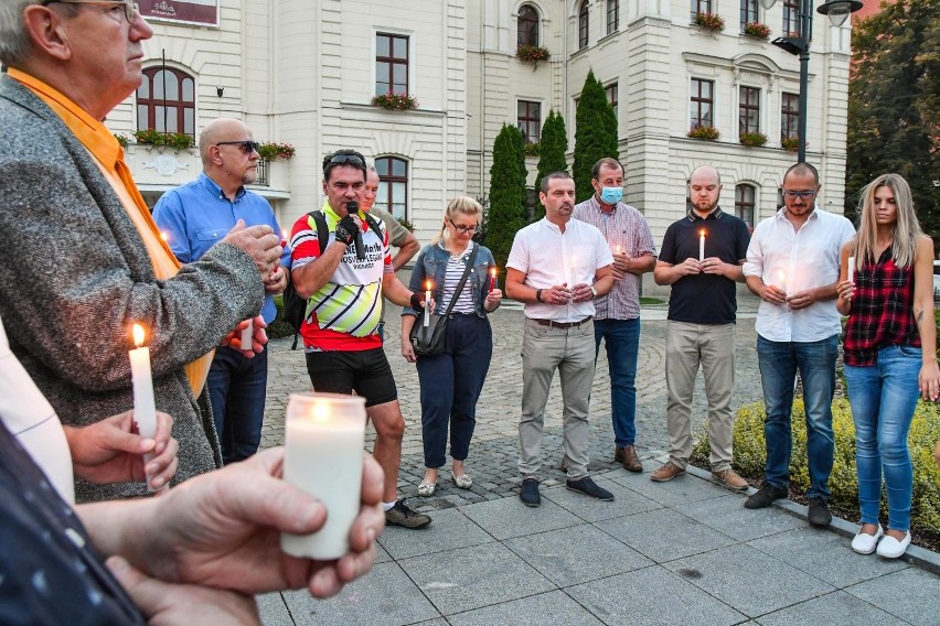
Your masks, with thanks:
[{"label": "large leafy tree at far right, behind the woman in plaid", "polygon": [[879,174],[910,183],[921,227],[940,236],[940,2],[898,0],[861,22],[848,83],[845,215]]}]

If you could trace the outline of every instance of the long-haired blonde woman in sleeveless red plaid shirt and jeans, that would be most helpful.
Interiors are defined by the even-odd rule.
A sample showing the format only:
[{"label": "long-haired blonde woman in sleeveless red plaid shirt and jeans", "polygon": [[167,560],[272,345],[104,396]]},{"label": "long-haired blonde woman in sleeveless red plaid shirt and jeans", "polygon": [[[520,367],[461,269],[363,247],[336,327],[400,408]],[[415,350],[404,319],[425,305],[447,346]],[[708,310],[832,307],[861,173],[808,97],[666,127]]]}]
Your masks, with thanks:
[{"label": "long-haired blonde woman in sleeveless red plaid shirt and jeans", "polygon": [[[847,279],[852,260],[853,280]],[[884,174],[862,190],[862,224],[842,249],[836,306],[855,422],[862,528],[852,549],[897,559],[910,543],[914,468],[907,434],[919,396],[940,396],[933,320],[933,241],[920,230],[907,181]],[[888,528],[878,524],[882,479]]]}]

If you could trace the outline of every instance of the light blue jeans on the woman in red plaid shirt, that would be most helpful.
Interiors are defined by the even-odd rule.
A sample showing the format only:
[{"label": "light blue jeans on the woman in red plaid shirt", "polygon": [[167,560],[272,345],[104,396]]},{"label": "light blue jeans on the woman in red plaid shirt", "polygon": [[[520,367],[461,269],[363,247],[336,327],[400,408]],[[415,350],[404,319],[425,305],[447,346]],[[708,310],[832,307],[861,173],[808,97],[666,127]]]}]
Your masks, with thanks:
[{"label": "light blue jeans on the woman in red plaid shirt", "polygon": [[888,493],[888,528],[910,528],[914,466],[907,447],[910,420],[920,396],[920,348],[888,346],[869,367],[845,366],[855,421],[855,464],[862,524],[878,524],[882,472]]}]

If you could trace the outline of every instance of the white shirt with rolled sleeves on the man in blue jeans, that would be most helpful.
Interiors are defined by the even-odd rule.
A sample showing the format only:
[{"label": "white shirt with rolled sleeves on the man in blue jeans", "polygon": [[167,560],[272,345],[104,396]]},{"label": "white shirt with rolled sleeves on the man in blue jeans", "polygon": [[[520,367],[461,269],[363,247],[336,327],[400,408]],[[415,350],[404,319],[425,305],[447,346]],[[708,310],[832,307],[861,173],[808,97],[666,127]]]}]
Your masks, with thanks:
[{"label": "white shirt with rolled sleeves on the man in blue jeans", "polygon": [[[781,208],[754,229],[745,277],[760,277],[765,284],[780,287],[788,295],[836,282],[842,246],[855,236],[852,223],[815,207],[795,230],[786,211]],[[755,330],[771,342],[819,342],[837,334],[842,326],[835,299],[799,311],[761,301]]]}]

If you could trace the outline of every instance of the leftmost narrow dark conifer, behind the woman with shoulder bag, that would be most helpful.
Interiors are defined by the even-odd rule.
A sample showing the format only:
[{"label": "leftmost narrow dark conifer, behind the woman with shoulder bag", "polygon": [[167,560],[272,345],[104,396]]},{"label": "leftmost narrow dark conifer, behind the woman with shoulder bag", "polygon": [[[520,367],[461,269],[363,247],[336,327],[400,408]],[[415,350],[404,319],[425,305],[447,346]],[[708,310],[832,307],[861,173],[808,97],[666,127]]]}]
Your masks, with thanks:
[{"label": "leftmost narrow dark conifer, behind the woman with shoulder bag", "polygon": [[490,168],[490,206],[487,212],[487,247],[496,265],[505,267],[516,230],[525,226],[525,153],[522,133],[503,125],[493,142]]}]

